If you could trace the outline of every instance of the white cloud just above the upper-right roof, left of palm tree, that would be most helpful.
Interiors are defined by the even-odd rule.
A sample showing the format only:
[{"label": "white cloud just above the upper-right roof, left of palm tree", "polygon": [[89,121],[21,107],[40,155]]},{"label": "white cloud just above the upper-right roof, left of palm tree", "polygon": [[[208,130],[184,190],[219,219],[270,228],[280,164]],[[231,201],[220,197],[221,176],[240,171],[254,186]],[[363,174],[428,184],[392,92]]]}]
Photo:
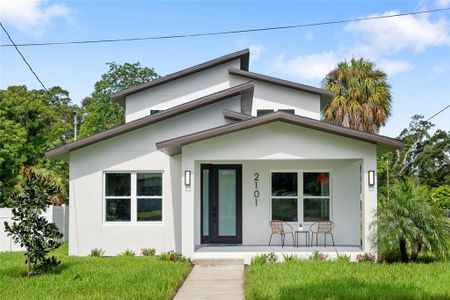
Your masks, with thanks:
[{"label": "white cloud just above the upper-right roof, left of palm tree", "polygon": [[286,59],[282,53],[275,59],[273,68],[298,80],[320,80],[336,66],[339,59],[332,51],[300,55],[292,59]]}]

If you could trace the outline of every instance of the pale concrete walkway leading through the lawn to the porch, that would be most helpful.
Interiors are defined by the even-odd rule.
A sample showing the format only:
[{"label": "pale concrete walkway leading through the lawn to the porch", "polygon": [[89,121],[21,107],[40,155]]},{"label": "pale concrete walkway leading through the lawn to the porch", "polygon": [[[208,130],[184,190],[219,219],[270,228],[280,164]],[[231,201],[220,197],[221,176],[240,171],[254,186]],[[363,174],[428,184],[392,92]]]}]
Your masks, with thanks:
[{"label": "pale concrete walkway leading through the lawn to the porch", "polygon": [[174,299],[244,299],[243,261],[194,261],[194,268]]}]

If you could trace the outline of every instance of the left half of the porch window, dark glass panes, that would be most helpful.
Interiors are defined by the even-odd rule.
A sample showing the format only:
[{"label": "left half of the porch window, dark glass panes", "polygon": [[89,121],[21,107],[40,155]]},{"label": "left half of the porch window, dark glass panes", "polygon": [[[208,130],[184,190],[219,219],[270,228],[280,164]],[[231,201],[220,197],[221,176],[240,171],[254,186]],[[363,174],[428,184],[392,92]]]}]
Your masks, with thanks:
[{"label": "left half of the porch window, dark glass panes", "polygon": [[297,173],[272,173],[272,220],[297,221]]}]

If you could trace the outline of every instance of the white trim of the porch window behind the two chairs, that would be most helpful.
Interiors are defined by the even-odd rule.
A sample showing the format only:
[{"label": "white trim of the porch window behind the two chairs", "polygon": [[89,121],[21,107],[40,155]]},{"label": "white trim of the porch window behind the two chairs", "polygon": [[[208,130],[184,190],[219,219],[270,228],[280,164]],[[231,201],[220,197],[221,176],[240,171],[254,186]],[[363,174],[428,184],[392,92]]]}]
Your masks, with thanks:
[{"label": "white trim of the porch window behind the two chairs", "polygon": [[[303,199],[304,198],[325,198],[329,200],[329,209],[330,209],[330,221],[333,221],[333,170],[332,169],[271,169],[269,170],[270,176],[270,186],[269,186],[269,195],[270,195],[270,205],[269,205],[269,218],[272,220],[272,174],[273,173],[297,173],[297,221],[287,221],[289,224],[306,224],[311,225],[315,222],[308,221],[305,222],[304,208],[303,208]],[[330,176],[330,195],[329,196],[305,196],[303,193],[303,174],[304,173],[328,173]],[[294,196],[275,196],[279,199],[292,199]]]}]

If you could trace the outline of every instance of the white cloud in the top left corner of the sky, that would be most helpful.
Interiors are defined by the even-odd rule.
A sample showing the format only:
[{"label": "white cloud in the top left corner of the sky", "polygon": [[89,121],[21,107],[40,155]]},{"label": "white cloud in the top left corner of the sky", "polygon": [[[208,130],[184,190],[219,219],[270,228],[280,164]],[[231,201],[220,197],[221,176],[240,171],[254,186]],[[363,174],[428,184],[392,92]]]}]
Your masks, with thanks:
[{"label": "white cloud in the top left corner of the sky", "polygon": [[47,2],[46,0],[2,0],[0,17],[5,24],[39,35],[53,18],[67,18],[70,14],[66,5],[50,5]]}]

